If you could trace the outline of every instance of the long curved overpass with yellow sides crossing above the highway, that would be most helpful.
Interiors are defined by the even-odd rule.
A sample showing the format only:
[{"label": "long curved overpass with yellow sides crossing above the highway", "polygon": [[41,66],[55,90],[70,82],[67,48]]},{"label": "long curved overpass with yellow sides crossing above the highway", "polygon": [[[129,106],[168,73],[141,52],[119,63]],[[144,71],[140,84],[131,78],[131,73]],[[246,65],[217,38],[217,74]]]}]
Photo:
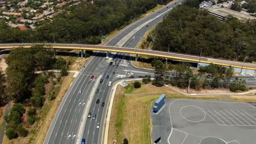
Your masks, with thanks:
[{"label": "long curved overpass with yellow sides crossing above the highway", "polygon": [[208,58],[200,56],[185,55],[181,53],[154,51],[154,50],[142,50],[132,49],[127,47],[115,47],[115,46],[101,46],[101,45],[83,45],[83,44],[0,44],[0,49],[16,49],[19,47],[30,48],[34,45],[44,45],[49,49],[77,49],[77,50],[92,50],[92,51],[108,51],[108,52],[123,52],[138,55],[148,55],[154,57],[163,57],[170,59],[178,59],[189,62],[200,62],[200,63],[213,63],[217,65],[223,65],[227,67],[249,69],[256,71],[256,64],[243,63],[238,61],[229,61],[217,58]]}]

